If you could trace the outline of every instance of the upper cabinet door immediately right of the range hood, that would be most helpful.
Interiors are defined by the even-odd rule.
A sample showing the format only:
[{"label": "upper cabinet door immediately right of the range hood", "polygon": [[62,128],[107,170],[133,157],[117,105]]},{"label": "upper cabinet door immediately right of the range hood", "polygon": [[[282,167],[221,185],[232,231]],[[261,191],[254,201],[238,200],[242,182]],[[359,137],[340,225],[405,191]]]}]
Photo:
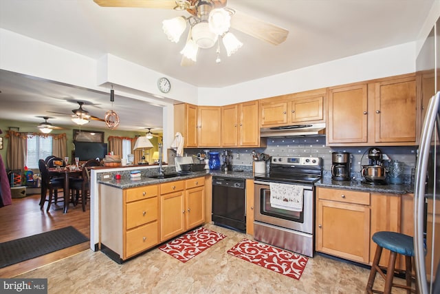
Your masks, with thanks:
[{"label": "upper cabinet door immediately right of the range hood", "polygon": [[366,143],[368,140],[367,85],[329,91],[328,143]]}]

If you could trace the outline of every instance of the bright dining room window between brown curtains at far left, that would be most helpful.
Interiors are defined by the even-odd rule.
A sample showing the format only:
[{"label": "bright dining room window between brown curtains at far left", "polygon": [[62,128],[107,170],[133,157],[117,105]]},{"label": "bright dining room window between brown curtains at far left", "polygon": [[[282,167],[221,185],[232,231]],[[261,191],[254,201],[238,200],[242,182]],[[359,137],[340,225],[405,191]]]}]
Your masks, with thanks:
[{"label": "bright dining room window between brown curtains at far left", "polygon": [[38,169],[39,160],[52,154],[52,136],[28,136],[28,154],[26,166],[28,169]]}]

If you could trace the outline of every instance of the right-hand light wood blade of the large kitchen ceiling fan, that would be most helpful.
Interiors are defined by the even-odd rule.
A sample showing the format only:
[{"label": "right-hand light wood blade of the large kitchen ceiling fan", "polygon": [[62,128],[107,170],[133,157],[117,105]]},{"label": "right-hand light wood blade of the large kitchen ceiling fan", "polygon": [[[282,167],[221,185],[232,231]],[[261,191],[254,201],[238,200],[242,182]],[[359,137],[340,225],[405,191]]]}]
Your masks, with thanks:
[{"label": "right-hand light wood blade of the large kitchen ceiling fan", "polygon": [[288,30],[243,12],[234,11],[235,14],[231,17],[232,28],[274,45],[281,44],[287,39]]}]

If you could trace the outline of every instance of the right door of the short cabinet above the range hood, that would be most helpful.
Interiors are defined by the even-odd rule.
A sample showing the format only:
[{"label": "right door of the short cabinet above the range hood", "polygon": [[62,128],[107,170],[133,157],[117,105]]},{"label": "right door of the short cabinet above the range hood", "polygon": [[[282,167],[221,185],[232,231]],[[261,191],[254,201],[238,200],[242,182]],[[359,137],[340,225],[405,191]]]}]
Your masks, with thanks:
[{"label": "right door of the short cabinet above the range hood", "polygon": [[296,98],[290,102],[292,123],[323,120],[324,97]]}]

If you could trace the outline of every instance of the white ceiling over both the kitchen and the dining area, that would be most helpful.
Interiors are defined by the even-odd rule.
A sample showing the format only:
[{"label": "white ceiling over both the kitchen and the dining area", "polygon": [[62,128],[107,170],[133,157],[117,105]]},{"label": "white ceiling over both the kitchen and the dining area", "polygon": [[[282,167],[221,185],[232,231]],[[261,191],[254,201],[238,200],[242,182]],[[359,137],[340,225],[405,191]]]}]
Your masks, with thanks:
[{"label": "white ceiling over both the kitchen and the dining area", "polygon": [[[94,59],[113,54],[197,87],[224,87],[415,41],[433,2],[228,0],[230,8],[289,30],[287,40],[275,46],[232,30],[243,42],[243,48],[230,57],[222,52],[219,64],[215,63],[215,48],[201,50],[192,67],[180,66],[179,51],[186,34],[176,44],[162,32],[164,19],[188,16],[187,12],[102,8],[92,0],[0,0],[0,28]],[[6,119],[41,122],[36,116],[47,115],[47,110],[70,113],[78,108],[75,101],[89,102],[91,105],[84,108],[94,116],[102,117],[112,108],[108,92],[4,71],[0,72],[0,90],[0,117]],[[116,94],[113,109],[120,115],[120,129],[162,127],[160,107]],[[68,117],[56,117],[50,122],[72,124]]]}]

